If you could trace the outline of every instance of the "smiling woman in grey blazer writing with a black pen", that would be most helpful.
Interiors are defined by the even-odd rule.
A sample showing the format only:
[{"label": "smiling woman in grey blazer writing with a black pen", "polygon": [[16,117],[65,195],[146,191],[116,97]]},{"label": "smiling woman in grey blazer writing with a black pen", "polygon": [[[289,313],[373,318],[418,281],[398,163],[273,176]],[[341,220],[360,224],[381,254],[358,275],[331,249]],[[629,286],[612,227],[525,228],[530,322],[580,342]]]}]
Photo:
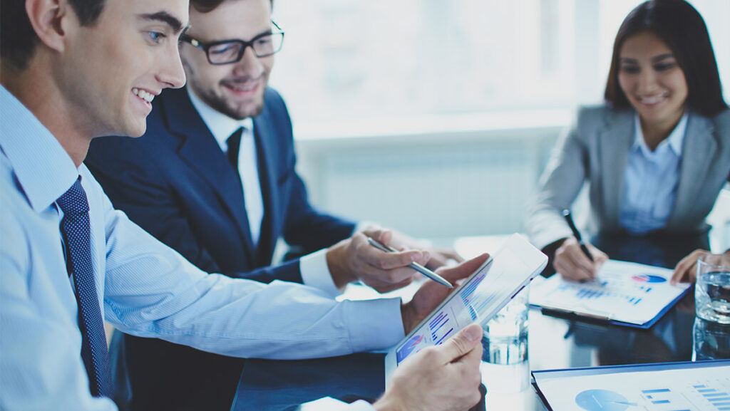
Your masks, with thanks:
[{"label": "smiling woman in grey blazer writing with a black pen", "polygon": [[[730,180],[730,111],[702,16],[683,0],[651,0],[616,36],[606,103],[578,110],[531,201],[526,230],[570,280],[596,275],[608,256],[583,253],[566,224],[585,182],[591,231],[702,234]],[[694,280],[697,250],[673,280]],[[730,250],[726,252],[730,259]]]}]

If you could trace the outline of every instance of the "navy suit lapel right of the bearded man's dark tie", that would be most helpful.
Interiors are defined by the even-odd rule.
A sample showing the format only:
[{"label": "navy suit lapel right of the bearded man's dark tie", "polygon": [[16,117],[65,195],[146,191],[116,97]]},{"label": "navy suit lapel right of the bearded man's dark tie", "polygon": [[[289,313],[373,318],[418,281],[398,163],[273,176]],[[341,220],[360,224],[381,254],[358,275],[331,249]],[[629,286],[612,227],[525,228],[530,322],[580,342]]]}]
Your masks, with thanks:
[{"label": "navy suit lapel right of the bearded man's dark tie", "polygon": [[277,164],[276,147],[274,141],[274,130],[272,121],[269,118],[269,110],[264,109],[261,115],[253,119],[253,130],[255,133],[256,147],[258,150],[258,179],[261,183],[261,196],[264,199],[264,220],[261,222],[261,237],[258,240],[258,258],[269,264],[276,244],[274,233],[278,232],[277,224],[280,221],[274,220],[277,215],[278,191],[276,173]]}]

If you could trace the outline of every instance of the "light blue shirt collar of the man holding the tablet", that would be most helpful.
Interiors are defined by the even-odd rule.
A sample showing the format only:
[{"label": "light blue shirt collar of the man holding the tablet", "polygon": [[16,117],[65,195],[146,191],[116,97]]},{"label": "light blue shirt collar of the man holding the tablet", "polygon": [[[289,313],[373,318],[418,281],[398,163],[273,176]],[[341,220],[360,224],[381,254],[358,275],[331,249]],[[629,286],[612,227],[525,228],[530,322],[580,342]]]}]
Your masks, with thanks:
[{"label": "light blue shirt collar of the man holding the tablet", "polygon": [[0,85],[0,149],[35,212],[53,204],[79,177],[61,143],[23,103]]}]

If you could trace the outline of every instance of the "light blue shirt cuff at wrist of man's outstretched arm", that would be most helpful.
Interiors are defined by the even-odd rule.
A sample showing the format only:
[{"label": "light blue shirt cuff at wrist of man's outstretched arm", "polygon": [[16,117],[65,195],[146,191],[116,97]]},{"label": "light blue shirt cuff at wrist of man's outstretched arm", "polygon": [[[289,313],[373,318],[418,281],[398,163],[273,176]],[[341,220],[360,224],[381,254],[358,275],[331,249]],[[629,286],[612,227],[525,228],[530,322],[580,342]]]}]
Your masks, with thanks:
[{"label": "light blue shirt cuff at wrist of man's outstretched arm", "polygon": [[384,350],[403,337],[401,299],[344,300],[353,353]]}]

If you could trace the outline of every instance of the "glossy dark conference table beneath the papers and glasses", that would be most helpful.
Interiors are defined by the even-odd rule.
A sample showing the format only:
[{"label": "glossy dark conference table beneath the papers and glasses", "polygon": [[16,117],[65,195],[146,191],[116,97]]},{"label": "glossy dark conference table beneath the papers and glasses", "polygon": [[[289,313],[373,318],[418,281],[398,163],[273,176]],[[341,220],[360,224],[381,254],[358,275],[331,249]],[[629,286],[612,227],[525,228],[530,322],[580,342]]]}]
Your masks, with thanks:
[{"label": "glossy dark conference table beneath the papers and glasses", "polygon": [[[473,256],[496,250],[502,239],[458,239],[455,247],[462,255]],[[707,236],[635,238],[611,234],[593,237],[592,242],[611,258],[668,268],[696,248],[707,249]],[[369,288],[353,285],[342,298],[375,296]],[[730,358],[728,327],[705,323],[695,326],[695,320],[694,293],[688,293],[646,330],[558,318],[532,309],[529,332],[523,342],[526,350],[518,350],[509,361],[503,361],[510,364],[482,362],[486,394],[475,410],[548,410],[531,385],[530,372],[535,370],[692,361],[694,357],[697,360]],[[484,358],[488,359],[486,339],[483,345]],[[374,402],[385,389],[384,357],[384,353],[358,353],[300,361],[249,359],[231,411],[326,410],[326,407],[307,404],[323,397],[343,402],[357,399]]]}]

